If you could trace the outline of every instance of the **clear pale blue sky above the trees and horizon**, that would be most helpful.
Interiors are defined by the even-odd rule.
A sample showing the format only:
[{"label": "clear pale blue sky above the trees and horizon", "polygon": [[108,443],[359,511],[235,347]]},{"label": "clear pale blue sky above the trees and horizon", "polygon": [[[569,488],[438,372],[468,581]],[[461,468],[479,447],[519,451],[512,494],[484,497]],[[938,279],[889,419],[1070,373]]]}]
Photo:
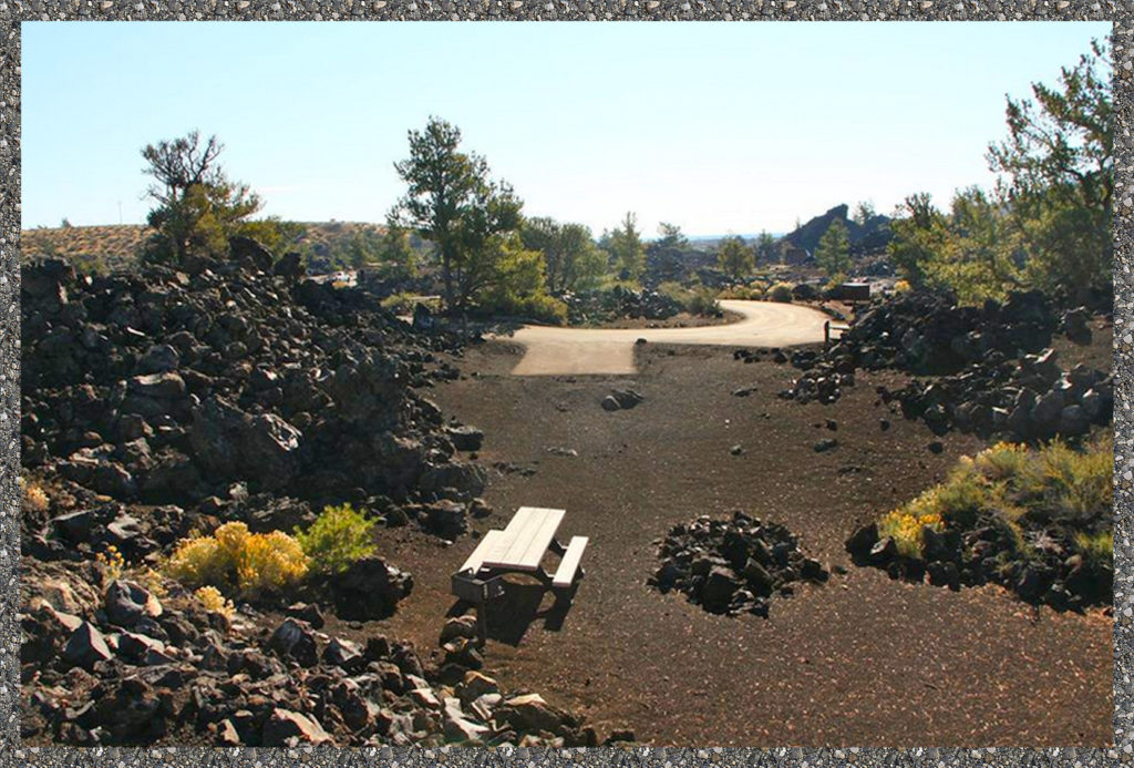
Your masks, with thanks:
[{"label": "clear pale blue sky above the trees and horizon", "polygon": [[636,211],[686,234],[785,231],[987,185],[1005,94],[1055,82],[1095,23],[23,25],[23,223],[141,222],[139,150],[200,128],[264,212],[381,221],[430,115],[525,213]]}]

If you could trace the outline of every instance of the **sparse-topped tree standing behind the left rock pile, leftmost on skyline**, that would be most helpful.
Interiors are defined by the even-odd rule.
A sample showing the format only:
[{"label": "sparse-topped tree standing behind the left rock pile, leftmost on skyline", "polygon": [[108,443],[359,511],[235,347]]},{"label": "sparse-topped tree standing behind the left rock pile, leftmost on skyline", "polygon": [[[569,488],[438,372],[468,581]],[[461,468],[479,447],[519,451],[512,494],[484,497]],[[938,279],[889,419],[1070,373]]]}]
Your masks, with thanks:
[{"label": "sparse-topped tree standing behind the left rock pile, leftmost on skyline", "polygon": [[252,226],[247,218],[262,202],[247,185],[225,176],[217,164],[222,150],[215,136],[202,146],[196,130],[142,150],[145,172],[154,178],[147,194],[158,203],[147,217],[158,230],[150,258],[181,260],[191,251],[220,255],[229,237]]}]

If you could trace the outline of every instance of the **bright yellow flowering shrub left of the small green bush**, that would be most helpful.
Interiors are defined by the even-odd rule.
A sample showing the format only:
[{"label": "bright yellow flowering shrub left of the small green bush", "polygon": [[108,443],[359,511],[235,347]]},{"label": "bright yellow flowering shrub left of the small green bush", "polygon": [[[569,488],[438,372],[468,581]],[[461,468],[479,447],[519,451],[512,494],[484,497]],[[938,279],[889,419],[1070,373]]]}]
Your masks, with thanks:
[{"label": "bright yellow flowering shrub left of the small green bush", "polygon": [[307,566],[299,542],[287,533],[251,533],[244,523],[226,523],[211,537],[183,540],[163,569],[187,586],[247,598],[299,582]]}]

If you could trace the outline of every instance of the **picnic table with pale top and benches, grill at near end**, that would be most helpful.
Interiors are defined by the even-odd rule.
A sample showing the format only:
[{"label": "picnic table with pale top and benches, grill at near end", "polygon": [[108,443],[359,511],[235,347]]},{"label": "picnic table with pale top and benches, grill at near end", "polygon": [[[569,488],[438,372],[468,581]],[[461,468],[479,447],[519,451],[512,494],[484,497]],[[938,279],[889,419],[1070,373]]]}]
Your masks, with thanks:
[{"label": "picnic table with pale top and benches, grill at near end", "polygon": [[[501,577],[509,573],[534,576],[548,589],[567,596],[585,573],[579,563],[587,538],[573,537],[565,547],[557,538],[566,509],[521,507],[503,530],[491,530],[452,574],[452,593],[477,606],[481,640],[485,639],[485,604],[503,594]],[[541,565],[548,551],[559,556],[555,573]]]}]

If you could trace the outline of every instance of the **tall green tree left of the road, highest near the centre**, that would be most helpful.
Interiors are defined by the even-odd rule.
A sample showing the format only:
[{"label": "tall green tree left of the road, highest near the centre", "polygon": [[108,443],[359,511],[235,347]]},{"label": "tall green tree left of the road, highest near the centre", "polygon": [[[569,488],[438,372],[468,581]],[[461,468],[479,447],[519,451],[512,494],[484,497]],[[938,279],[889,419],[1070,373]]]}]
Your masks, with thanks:
[{"label": "tall green tree left of the road, highest near the centre", "polygon": [[413,229],[435,244],[445,280],[445,303],[462,310],[499,276],[496,240],[521,225],[523,203],[503,182],[489,178],[485,160],[458,151],[460,130],[431,117],[409,132],[409,158],[395,163],[407,192],[390,211],[393,226]]}]

